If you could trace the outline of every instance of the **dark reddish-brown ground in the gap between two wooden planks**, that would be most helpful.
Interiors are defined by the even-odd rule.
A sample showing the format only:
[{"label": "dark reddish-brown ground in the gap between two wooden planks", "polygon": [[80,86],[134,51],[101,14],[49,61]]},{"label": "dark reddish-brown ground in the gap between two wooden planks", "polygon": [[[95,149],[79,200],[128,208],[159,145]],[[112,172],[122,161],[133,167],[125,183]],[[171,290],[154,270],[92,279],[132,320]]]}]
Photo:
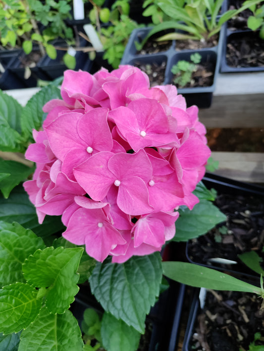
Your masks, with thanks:
[{"label": "dark reddish-brown ground in the gap between two wooden planks", "polygon": [[211,151],[264,152],[263,128],[212,128],[206,136]]}]

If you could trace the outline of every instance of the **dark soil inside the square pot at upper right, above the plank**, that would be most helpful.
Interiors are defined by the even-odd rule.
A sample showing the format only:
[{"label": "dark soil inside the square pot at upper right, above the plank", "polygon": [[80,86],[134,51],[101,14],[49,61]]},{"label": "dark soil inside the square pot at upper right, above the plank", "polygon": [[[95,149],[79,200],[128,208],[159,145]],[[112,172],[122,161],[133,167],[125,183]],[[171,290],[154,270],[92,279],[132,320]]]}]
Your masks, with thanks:
[{"label": "dark soil inside the square pot at upper right, above the plank", "polygon": [[244,34],[243,37],[228,38],[226,63],[231,67],[264,66],[264,40],[258,33]]}]

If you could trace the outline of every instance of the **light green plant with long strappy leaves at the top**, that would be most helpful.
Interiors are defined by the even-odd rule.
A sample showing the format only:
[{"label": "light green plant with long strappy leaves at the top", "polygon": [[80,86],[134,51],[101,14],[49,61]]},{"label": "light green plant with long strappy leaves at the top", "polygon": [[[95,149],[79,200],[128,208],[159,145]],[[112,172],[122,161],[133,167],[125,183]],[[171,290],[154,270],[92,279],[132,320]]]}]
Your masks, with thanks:
[{"label": "light green plant with long strappy leaves at the top", "polygon": [[226,21],[250,6],[259,3],[259,0],[246,0],[239,9],[228,10],[221,14],[218,19],[217,16],[223,2],[223,0],[159,1],[159,8],[169,17],[169,20],[155,25],[140,44],[141,48],[151,36],[169,29],[173,32],[165,34],[157,40],[192,39],[207,42],[212,36],[219,33],[221,26]]}]

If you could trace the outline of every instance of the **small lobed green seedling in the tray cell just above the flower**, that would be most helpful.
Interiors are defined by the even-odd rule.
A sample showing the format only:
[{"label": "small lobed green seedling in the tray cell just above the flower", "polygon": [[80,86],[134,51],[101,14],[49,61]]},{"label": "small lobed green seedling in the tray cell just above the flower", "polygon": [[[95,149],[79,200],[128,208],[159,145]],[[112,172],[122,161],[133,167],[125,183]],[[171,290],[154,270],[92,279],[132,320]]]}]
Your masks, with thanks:
[{"label": "small lobed green seedling in the tray cell just above the flower", "polygon": [[173,83],[177,84],[180,88],[184,88],[192,81],[193,72],[197,71],[197,64],[201,62],[202,56],[196,52],[190,56],[189,61],[180,60],[172,66],[171,72],[176,75]]}]

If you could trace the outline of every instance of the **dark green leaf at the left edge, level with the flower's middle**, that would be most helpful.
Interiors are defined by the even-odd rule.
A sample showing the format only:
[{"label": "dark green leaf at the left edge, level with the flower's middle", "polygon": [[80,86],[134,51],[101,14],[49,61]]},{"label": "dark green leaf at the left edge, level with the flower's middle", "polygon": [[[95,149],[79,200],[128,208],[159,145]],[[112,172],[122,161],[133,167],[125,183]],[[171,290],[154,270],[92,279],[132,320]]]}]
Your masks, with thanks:
[{"label": "dark green leaf at the left edge, level with the flower's middle", "polygon": [[11,190],[21,181],[26,180],[33,172],[33,168],[20,162],[0,159],[0,176],[1,174],[9,174],[8,177],[0,179],[0,190],[4,198],[7,199]]}]

